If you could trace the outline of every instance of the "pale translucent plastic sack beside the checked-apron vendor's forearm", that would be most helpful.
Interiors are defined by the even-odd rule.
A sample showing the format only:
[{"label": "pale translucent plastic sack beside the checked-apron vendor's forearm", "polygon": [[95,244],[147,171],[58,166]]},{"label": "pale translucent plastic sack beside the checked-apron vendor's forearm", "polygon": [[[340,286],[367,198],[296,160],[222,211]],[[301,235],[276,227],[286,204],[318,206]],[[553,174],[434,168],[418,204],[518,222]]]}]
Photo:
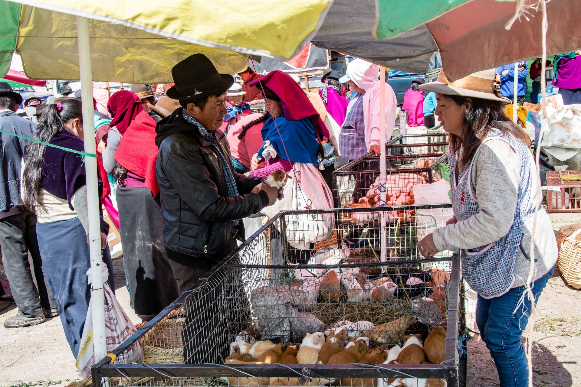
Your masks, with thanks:
[{"label": "pale translucent plastic sack beside the checked-apron vendor's forearm", "polygon": [[[432,184],[419,184],[412,187],[415,204],[450,204],[450,183],[442,179]],[[418,242],[426,235],[434,232],[438,227],[446,226],[446,222],[453,218],[454,210],[450,208],[417,209],[415,211],[415,233]],[[449,251],[443,251],[436,256],[449,256]],[[433,263],[428,263],[432,267]]]}]

